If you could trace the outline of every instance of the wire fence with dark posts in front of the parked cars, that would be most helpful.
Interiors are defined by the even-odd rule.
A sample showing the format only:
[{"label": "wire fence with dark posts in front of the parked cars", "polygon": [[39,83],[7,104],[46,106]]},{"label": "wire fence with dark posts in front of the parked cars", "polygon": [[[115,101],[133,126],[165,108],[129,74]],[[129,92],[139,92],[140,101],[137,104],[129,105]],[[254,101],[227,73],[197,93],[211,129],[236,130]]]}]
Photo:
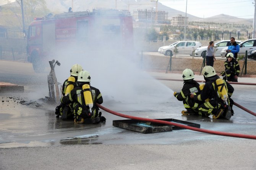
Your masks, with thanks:
[{"label": "wire fence with dark posts in front of the parked cars", "polygon": [[[203,57],[195,57],[191,55],[182,55],[182,51],[178,55],[165,56],[156,52],[141,52],[140,54],[141,68],[147,70],[160,70],[160,71],[183,71],[191,69],[194,72],[201,72],[202,68],[206,65]],[[240,53],[241,56],[246,56]],[[224,62],[225,57],[216,57],[214,62],[214,69],[216,73],[221,73],[225,70]],[[256,60],[246,58],[238,58],[241,74],[256,74]]]}]

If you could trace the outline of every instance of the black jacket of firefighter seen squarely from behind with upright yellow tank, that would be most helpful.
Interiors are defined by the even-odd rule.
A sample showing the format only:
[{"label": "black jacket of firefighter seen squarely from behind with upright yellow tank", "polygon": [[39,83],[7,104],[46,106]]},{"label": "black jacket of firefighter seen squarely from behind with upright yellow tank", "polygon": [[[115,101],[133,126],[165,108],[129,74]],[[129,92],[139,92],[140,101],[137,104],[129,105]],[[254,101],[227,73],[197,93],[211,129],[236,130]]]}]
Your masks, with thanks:
[{"label": "black jacket of firefighter seen squarely from behind with upright yellow tank", "polygon": [[[70,104],[72,103],[74,108],[74,114],[86,118],[94,118],[99,117],[99,107],[96,106],[96,103],[102,104],[103,98],[99,89],[90,86],[92,92],[92,100],[93,100],[93,107],[92,107],[92,116],[86,116],[89,113],[88,106],[85,105],[83,89],[81,86],[75,87],[67,96],[63,96],[60,99],[60,102],[63,104]],[[79,111],[79,112],[78,112]]]}]

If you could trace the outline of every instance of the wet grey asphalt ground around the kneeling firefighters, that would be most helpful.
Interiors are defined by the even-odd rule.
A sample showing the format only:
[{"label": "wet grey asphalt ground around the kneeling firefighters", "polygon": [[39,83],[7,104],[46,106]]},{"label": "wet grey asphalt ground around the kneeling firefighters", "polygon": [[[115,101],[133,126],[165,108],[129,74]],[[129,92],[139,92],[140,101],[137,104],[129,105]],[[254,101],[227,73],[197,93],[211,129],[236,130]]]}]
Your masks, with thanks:
[{"label": "wet grey asphalt ground around the kneeling firefighters", "polygon": [[[12,64],[12,62],[8,62],[8,64]],[[47,147],[46,148],[47,152],[50,152],[51,150],[50,148],[58,152],[58,149],[60,149],[58,147],[71,146],[76,148],[77,146],[83,146],[83,148],[84,147],[87,148],[87,146],[90,146],[89,150],[93,152],[94,145],[95,146],[100,145],[100,148],[103,147],[105,149],[107,148],[114,149],[115,147],[112,148],[113,147],[112,145],[116,145],[117,148],[119,148],[119,146],[121,147],[124,145],[126,148],[125,149],[126,152],[129,152],[129,146],[138,145],[138,146],[141,146],[141,148],[144,148],[144,146],[152,147],[152,152],[154,151],[154,153],[156,153],[157,149],[159,149],[160,146],[164,146],[166,147],[166,149],[168,149],[171,146],[176,148],[176,147],[182,147],[182,146],[187,147],[190,144],[193,144],[195,147],[200,148],[204,146],[204,143],[208,145],[209,143],[216,144],[216,142],[217,142],[217,145],[218,146],[221,145],[220,148],[223,149],[222,151],[221,150],[218,151],[218,153],[221,153],[221,152],[225,152],[225,154],[227,154],[227,152],[229,153],[229,151],[226,151],[224,149],[229,147],[228,145],[226,145],[227,143],[233,143],[235,148],[239,148],[239,149],[233,148],[232,152],[234,153],[242,152],[241,149],[243,149],[243,147],[246,147],[246,145],[248,148],[246,148],[245,150],[251,151],[251,153],[248,154],[247,157],[253,156],[256,153],[256,145],[255,145],[256,141],[251,139],[217,136],[217,135],[211,135],[211,134],[206,134],[201,132],[195,132],[191,130],[173,130],[172,132],[143,134],[143,133],[133,132],[130,130],[114,127],[112,125],[113,120],[122,120],[125,118],[117,117],[116,115],[112,115],[105,111],[102,111],[102,115],[107,119],[105,123],[101,122],[93,125],[85,125],[85,124],[76,124],[71,120],[62,121],[60,118],[55,117],[56,116],[55,107],[57,105],[47,104],[44,101],[42,101],[42,99],[40,99],[40,98],[44,99],[45,96],[48,96],[47,73],[37,74],[37,73],[31,72],[31,65],[29,63],[23,63],[21,65],[24,66],[23,69],[27,69],[29,71],[28,72],[11,71],[9,73],[3,74],[4,71],[0,69],[0,72],[1,72],[0,80],[2,82],[16,83],[24,86],[23,93],[22,92],[0,93],[0,98],[1,98],[0,148],[2,148],[0,149],[0,153],[2,153],[2,156],[0,157],[3,157],[4,155],[6,155],[7,157],[8,156],[11,157],[11,153],[15,151],[14,148],[20,148],[20,151],[24,153],[25,151],[23,150],[23,147],[35,147],[35,148]],[[172,119],[198,123],[201,125],[201,128],[208,129],[208,130],[256,135],[256,130],[255,130],[256,117],[241,110],[236,106],[233,107],[235,115],[232,116],[230,120],[223,120],[223,119],[215,120],[215,119],[212,119],[211,116],[201,117],[201,116],[194,116],[194,115],[190,115],[190,116],[181,115],[181,111],[184,110],[183,104],[182,102],[178,101],[176,98],[173,97],[173,91],[180,91],[183,86],[183,82],[155,80],[153,78],[153,77],[168,77],[173,79],[181,79],[181,74],[173,74],[173,73],[165,74],[162,72],[143,72],[142,75],[145,75],[145,76],[142,78],[139,77],[140,81],[136,82],[136,87],[134,88],[136,90],[134,90],[134,92],[130,91],[131,93],[130,95],[133,95],[134,98],[127,98],[127,99],[120,100],[119,98],[116,98],[115,95],[111,96],[107,94],[107,92],[104,91],[104,88],[103,87],[101,88],[100,85],[95,86],[100,89],[103,95],[104,103],[102,104],[102,106],[107,107],[113,111],[120,112],[122,114],[127,114],[127,115],[132,115],[137,117],[144,117],[144,118],[150,118],[150,119],[171,119],[172,118]],[[58,75],[57,75],[57,78],[58,78]],[[195,79],[203,80],[203,76],[196,75]],[[242,77],[242,78],[239,78],[239,81],[256,83],[255,78]],[[145,87],[144,83],[146,83],[149,87],[144,88]],[[241,104],[247,109],[255,112],[256,110],[256,106],[255,106],[256,98],[254,94],[255,86],[233,85],[233,87],[235,88],[235,92],[233,93],[233,96],[232,96],[233,100],[236,103]],[[125,91],[125,87],[122,90]],[[107,94],[107,95],[104,96],[104,94]],[[133,100],[129,100],[129,99],[133,99]],[[198,146],[198,144],[200,143],[201,145]],[[102,146],[102,144],[104,146]],[[111,146],[109,147],[109,145]],[[253,147],[253,148],[250,148],[250,147]],[[13,148],[13,149],[8,150],[8,153],[7,153],[6,152],[7,150],[5,150],[4,148],[9,148],[9,149]],[[209,149],[209,146],[207,146],[207,148]],[[133,151],[133,149],[130,148],[131,151]],[[186,149],[175,150],[175,151],[186,152],[187,151]],[[210,147],[210,149],[213,149],[212,152],[214,152],[214,147],[213,148]],[[29,150],[35,151],[33,148]],[[160,150],[162,150],[162,148]],[[112,150],[109,152],[113,154]],[[42,153],[44,152],[42,151]],[[73,153],[73,152],[70,151],[70,153]],[[134,151],[134,153],[137,153],[137,152]],[[199,154],[198,151],[196,151],[196,153]],[[137,154],[139,155],[139,153]],[[187,154],[190,155],[191,153],[187,153]],[[129,157],[132,157],[133,153],[130,153],[128,155]],[[31,154],[30,156],[33,156],[33,154]],[[231,156],[231,157],[235,157],[235,156]],[[168,158],[166,157],[164,158],[164,160],[165,159],[168,160]],[[7,164],[8,164],[6,163],[6,161],[2,162],[3,165],[5,165],[3,166],[5,168],[7,167]],[[230,163],[233,161],[234,160],[229,160],[228,162]],[[140,164],[138,167],[133,167],[132,164],[133,163],[129,163],[127,164],[127,166],[130,165],[128,166],[130,167],[130,169],[144,169],[143,168],[144,166],[142,164]],[[150,164],[152,165],[154,164],[154,162],[151,162]],[[244,164],[248,164],[247,169],[253,169],[253,167],[255,167],[256,165],[254,157],[251,157],[251,159],[246,160]],[[118,166],[115,168],[113,167],[111,168],[111,166],[109,165],[107,167],[109,169],[129,169],[129,168],[125,168],[127,166],[123,166],[122,168],[120,167],[118,168]],[[11,167],[17,168],[14,165],[12,165]],[[35,167],[35,166],[32,166],[32,167]],[[32,167],[31,169],[33,169]],[[55,167],[55,169],[58,169],[60,167],[61,166],[58,165],[57,167]],[[182,165],[177,165],[177,168],[178,167],[182,167]],[[230,167],[235,168],[236,164],[232,164],[232,166]],[[26,168],[29,169],[27,166],[24,166],[21,169],[26,169]],[[91,167],[91,168],[97,169],[95,167]],[[108,168],[98,168],[98,169],[108,169]],[[209,168],[207,166],[205,168],[215,169],[215,168]],[[201,166],[201,168],[197,167],[197,169],[205,169],[205,168],[204,166]],[[221,168],[223,167],[220,166],[219,168],[217,167],[216,169],[221,169]],[[0,166],[0,169],[1,169],[1,166]],[[155,168],[149,168],[149,169],[155,169]],[[169,169],[169,168],[166,168],[166,169]],[[186,168],[183,168],[183,169],[186,169]],[[225,169],[230,169],[230,168],[225,168]]]}]

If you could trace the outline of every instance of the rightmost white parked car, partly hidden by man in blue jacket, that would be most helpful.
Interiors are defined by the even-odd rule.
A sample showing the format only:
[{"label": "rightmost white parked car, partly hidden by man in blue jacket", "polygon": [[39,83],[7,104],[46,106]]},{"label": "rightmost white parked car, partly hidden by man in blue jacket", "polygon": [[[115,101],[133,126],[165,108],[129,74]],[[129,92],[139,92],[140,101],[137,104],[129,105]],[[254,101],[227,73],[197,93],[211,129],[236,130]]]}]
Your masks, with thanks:
[{"label": "rightmost white parked car, partly hidden by man in blue jacket", "polygon": [[[249,51],[253,50],[254,48],[256,48],[256,38],[254,39],[250,39],[250,40],[246,40],[242,43],[240,43],[240,51],[238,53],[238,57],[245,55],[245,51],[247,50],[247,52],[249,53]],[[221,57],[225,57],[226,55],[226,51],[227,48],[222,49],[222,51],[220,52],[220,56]]]}]

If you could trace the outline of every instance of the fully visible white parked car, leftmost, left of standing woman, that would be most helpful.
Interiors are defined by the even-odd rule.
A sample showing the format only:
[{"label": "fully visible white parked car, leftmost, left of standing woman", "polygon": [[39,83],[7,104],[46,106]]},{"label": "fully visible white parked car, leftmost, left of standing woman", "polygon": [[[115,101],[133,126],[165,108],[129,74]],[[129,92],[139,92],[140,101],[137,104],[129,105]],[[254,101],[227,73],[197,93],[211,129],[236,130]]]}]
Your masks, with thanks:
[{"label": "fully visible white parked car, leftmost, left of standing woman", "polygon": [[177,54],[192,55],[193,51],[201,46],[201,43],[198,41],[179,41],[168,46],[160,47],[158,53],[170,56],[174,53],[173,50],[177,50]]}]

